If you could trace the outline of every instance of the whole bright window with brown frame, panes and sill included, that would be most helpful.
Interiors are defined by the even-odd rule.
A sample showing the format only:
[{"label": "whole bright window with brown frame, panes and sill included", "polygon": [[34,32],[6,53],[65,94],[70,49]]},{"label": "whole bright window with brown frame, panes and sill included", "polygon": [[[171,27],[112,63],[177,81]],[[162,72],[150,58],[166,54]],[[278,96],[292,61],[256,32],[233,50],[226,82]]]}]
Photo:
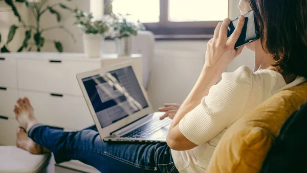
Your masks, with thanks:
[{"label": "whole bright window with brown frame, panes and sill included", "polygon": [[160,39],[207,39],[228,16],[228,0],[114,0],[113,12],[131,14]]}]

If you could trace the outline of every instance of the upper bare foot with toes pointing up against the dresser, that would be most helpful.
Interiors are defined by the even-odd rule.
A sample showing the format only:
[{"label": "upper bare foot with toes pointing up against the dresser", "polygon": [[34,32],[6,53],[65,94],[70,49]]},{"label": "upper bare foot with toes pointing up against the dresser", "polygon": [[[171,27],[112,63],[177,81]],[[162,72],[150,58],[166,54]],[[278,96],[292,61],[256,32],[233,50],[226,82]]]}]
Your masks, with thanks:
[{"label": "upper bare foot with toes pointing up against the dresser", "polygon": [[14,108],[15,117],[21,128],[24,128],[28,132],[33,125],[37,124],[33,108],[27,97],[24,99],[19,98],[16,103],[18,106],[15,105]]}]

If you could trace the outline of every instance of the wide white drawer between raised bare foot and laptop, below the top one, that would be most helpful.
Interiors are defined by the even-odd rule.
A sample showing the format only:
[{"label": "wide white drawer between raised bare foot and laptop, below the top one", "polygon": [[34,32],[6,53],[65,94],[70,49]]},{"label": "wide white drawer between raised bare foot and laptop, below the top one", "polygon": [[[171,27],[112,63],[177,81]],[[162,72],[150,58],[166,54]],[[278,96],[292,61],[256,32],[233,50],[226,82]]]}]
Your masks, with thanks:
[{"label": "wide white drawer between raised bare foot and laptop, below the top one", "polygon": [[83,96],[52,96],[50,93],[19,91],[27,96],[39,123],[64,129],[80,130],[94,125]]}]

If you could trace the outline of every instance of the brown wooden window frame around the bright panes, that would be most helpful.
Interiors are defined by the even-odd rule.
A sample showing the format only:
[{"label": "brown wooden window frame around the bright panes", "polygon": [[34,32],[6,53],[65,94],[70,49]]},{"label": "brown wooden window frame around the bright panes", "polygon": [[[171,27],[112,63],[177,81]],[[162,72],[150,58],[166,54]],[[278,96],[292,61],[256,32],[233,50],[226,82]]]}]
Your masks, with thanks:
[{"label": "brown wooden window frame around the bright panes", "polygon": [[144,23],[146,29],[155,34],[157,40],[207,40],[213,37],[214,29],[220,21],[171,22],[168,20],[169,0],[159,1],[160,21]]}]

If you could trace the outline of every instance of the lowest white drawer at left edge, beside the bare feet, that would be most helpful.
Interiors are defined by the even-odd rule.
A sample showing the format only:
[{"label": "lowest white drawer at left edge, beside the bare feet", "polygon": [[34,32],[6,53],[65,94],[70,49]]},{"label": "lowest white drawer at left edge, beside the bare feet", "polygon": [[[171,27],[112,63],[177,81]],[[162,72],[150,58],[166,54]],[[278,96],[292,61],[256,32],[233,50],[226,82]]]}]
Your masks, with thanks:
[{"label": "lowest white drawer at left edge, beside the bare feet", "polygon": [[0,145],[16,145],[17,128],[17,120],[0,118]]}]

